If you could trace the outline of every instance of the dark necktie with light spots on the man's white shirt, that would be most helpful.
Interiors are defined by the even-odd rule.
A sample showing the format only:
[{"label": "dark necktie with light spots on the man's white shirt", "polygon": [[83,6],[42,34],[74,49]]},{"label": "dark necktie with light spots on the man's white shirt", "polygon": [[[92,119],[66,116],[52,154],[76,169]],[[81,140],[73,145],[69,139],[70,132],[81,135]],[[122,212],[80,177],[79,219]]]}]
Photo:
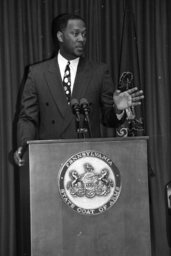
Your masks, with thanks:
[{"label": "dark necktie with light spots on the man's white shirt", "polygon": [[66,98],[68,101],[68,104],[70,103],[71,99],[71,72],[70,72],[70,62],[68,61],[65,72],[64,72],[64,78],[63,78],[63,86],[64,86],[64,91],[66,94]]}]

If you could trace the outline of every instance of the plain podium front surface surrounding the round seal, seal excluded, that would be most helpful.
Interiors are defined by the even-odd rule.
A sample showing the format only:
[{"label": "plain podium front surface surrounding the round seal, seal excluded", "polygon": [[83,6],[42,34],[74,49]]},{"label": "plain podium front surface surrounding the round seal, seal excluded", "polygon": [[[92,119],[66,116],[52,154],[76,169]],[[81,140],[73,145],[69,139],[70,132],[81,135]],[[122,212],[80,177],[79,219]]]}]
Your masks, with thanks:
[{"label": "plain podium front surface surrounding the round seal, seal excluded", "polygon": [[[116,203],[99,215],[81,215],[59,193],[61,165],[85,150],[108,155],[121,175]],[[31,256],[150,256],[145,138],[31,142]]]}]

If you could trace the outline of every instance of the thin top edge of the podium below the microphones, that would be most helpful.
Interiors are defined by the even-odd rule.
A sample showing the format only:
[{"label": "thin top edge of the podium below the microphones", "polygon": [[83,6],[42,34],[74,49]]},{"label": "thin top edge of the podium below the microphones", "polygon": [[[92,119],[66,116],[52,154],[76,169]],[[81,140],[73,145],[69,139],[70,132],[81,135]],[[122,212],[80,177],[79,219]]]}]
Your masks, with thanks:
[{"label": "thin top edge of the podium below the microphones", "polygon": [[86,139],[56,139],[56,140],[30,140],[27,144],[47,144],[47,143],[73,143],[73,142],[101,142],[101,141],[130,141],[148,140],[149,136],[136,137],[108,137],[108,138],[86,138]]}]

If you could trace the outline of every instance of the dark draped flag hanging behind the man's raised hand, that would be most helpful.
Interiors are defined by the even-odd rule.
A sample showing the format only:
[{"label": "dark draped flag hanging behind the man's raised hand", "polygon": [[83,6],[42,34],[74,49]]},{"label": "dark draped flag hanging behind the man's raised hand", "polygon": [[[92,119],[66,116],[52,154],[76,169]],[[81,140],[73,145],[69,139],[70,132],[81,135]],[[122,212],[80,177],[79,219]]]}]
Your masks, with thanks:
[{"label": "dark draped flag hanging behind the man's raised hand", "polygon": [[[131,89],[135,86],[141,90],[137,36],[134,23],[132,7],[129,2],[125,2],[118,80],[118,89],[121,91]],[[127,118],[116,129],[116,136],[142,136],[144,134],[142,110],[142,105],[128,108]]]}]

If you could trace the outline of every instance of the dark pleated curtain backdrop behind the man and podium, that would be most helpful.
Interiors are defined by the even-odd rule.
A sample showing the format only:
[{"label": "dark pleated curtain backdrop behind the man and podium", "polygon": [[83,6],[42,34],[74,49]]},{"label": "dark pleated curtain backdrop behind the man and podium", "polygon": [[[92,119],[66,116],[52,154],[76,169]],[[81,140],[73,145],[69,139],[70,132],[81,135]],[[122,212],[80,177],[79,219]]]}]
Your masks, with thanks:
[{"label": "dark pleated curtain backdrop behind the man and podium", "polygon": [[[51,21],[74,11],[87,21],[87,54],[109,64],[117,86],[123,23],[128,0],[0,1],[0,255],[17,254],[19,171],[15,114],[29,64],[53,54]],[[171,180],[171,2],[130,0],[135,18],[141,87],[145,93],[145,135],[149,136],[149,188],[153,256],[169,256],[165,185]],[[136,170],[135,170],[136,171]]]}]

